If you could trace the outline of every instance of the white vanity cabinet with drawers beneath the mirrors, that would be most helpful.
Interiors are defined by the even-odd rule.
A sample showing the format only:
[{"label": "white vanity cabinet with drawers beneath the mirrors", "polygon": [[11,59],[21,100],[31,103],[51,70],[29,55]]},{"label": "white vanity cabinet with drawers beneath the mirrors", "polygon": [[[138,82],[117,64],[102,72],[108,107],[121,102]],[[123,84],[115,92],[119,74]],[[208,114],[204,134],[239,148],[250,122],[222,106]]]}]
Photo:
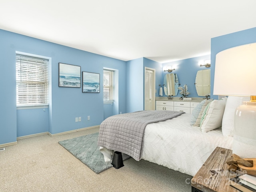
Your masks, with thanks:
[{"label": "white vanity cabinet with drawers beneath the mirrors", "polygon": [[156,110],[181,111],[191,114],[200,102],[188,101],[156,101]]}]

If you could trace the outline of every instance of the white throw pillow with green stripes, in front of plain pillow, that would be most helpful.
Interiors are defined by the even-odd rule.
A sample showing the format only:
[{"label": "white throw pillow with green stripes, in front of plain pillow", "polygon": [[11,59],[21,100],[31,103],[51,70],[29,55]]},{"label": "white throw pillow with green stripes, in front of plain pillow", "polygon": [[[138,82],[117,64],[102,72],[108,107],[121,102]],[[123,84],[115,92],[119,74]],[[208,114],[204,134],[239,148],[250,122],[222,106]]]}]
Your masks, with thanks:
[{"label": "white throw pillow with green stripes, in front of plain pillow", "polygon": [[226,97],[220,100],[213,100],[206,106],[200,121],[202,132],[208,132],[221,127],[226,100]]}]

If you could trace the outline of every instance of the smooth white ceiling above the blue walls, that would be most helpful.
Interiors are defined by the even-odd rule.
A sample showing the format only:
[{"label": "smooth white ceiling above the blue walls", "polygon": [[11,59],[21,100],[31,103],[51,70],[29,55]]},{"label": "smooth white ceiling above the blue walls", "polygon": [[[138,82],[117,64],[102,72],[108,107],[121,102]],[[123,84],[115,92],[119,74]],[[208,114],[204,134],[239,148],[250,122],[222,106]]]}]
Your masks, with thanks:
[{"label": "smooth white ceiling above the blue walls", "polygon": [[256,27],[256,0],[0,0],[0,29],[120,59],[210,54],[211,38]]}]

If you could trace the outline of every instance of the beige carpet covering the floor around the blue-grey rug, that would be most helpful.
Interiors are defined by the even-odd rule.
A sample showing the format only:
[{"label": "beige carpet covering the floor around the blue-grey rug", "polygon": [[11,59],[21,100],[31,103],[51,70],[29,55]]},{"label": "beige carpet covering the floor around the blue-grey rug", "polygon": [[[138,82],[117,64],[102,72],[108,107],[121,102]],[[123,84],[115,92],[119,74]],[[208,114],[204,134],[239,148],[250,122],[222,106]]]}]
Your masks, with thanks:
[{"label": "beige carpet covering the floor around the blue-grey rug", "polygon": [[0,192],[190,192],[192,176],[130,158],[95,174],[58,144],[98,128],[18,140],[0,152]]}]

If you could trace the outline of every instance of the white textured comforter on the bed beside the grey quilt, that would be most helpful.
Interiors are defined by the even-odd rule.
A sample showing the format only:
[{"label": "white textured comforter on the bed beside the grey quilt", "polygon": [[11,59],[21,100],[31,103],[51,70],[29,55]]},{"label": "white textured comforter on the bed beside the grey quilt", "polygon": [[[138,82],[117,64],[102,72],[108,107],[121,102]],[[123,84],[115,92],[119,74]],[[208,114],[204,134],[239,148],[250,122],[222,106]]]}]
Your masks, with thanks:
[{"label": "white textured comforter on the bed beside the grey quilt", "polygon": [[142,159],[194,176],[217,146],[232,149],[233,137],[224,137],[220,128],[203,133],[190,126],[190,117],[148,124]]}]

